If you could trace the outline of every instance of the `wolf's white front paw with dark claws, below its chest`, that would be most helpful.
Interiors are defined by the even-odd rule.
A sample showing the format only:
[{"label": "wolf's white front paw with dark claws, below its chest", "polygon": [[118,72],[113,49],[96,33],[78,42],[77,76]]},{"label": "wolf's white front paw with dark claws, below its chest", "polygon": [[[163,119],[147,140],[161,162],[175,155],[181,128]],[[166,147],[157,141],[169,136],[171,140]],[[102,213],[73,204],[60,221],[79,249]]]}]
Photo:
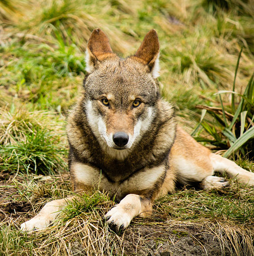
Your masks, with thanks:
[{"label": "wolf's white front paw with dark claws, below its chest", "polygon": [[123,205],[113,207],[103,219],[107,221],[109,228],[115,233],[126,229],[132,220],[130,214],[124,210]]}]

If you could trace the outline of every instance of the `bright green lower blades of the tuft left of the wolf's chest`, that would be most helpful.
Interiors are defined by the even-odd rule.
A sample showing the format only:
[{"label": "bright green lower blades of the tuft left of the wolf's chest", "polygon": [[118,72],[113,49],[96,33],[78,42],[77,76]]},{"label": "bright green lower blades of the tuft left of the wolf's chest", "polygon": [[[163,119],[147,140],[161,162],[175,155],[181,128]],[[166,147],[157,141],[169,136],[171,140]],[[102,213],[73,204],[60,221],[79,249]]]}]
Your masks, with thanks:
[{"label": "bright green lower blades of the tuft left of the wolf's chest", "polygon": [[17,172],[53,174],[65,169],[63,156],[67,149],[55,144],[52,138],[45,130],[33,130],[26,133],[24,141],[1,145],[0,171],[13,172],[18,166]]}]

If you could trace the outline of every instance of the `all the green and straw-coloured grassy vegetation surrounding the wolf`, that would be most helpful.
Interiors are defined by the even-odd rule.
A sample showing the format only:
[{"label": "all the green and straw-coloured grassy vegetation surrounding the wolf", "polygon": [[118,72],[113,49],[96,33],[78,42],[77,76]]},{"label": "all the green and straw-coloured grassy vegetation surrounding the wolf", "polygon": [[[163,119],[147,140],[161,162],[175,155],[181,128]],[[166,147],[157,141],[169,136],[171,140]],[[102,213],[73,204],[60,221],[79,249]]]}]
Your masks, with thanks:
[{"label": "all the green and straw-coloured grassy vegetation surrounding the wolf", "polygon": [[254,255],[254,188],[234,179],[224,190],[179,188],[119,235],[101,218],[114,202],[98,191],[46,230],[20,233],[71,193],[65,116],[97,27],[122,57],[156,29],[159,84],[179,123],[254,172],[253,0],[0,0],[0,254]]}]

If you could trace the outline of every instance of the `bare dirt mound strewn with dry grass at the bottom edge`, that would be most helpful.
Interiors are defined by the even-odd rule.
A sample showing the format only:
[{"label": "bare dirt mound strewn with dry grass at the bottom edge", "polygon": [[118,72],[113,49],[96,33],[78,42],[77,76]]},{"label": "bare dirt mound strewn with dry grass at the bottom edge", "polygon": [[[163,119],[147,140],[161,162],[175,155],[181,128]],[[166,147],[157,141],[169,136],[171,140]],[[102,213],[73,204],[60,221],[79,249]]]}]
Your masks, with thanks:
[{"label": "bare dirt mound strewn with dry grass at the bottom edge", "polygon": [[124,248],[127,255],[141,256],[231,255],[199,225],[137,225],[125,231]]}]

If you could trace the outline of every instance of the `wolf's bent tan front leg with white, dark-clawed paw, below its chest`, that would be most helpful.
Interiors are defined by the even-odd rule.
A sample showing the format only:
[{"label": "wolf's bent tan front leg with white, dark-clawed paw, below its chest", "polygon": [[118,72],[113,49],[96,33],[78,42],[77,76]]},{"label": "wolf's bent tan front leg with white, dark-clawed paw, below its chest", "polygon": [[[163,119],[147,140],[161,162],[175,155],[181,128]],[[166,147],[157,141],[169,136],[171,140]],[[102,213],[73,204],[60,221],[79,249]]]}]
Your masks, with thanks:
[{"label": "wolf's bent tan front leg with white, dark-clawed paw, below its chest", "polygon": [[152,202],[143,196],[129,194],[104,216],[111,230],[119,232],[128,227],[131,220],[151,213]]}]

